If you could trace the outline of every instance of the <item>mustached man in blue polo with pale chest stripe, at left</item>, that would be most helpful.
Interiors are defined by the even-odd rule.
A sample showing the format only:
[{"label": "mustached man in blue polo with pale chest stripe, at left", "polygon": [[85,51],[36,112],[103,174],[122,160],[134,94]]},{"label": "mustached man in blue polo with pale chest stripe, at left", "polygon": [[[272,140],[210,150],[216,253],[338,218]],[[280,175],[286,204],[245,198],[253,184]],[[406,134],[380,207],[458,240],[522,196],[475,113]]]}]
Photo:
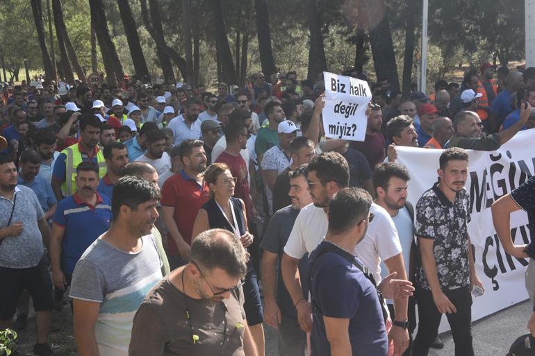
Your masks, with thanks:
[{"label": "mustached man in blue polo with pale chest stripe, at left", "polygon": [[110,227],[110,198],[97,192],[98,185],[98,167],[81,162],[76,167],[76,192],[60,201],[54,214],[50,262],[56,305],[61,305],[83,251]]}]

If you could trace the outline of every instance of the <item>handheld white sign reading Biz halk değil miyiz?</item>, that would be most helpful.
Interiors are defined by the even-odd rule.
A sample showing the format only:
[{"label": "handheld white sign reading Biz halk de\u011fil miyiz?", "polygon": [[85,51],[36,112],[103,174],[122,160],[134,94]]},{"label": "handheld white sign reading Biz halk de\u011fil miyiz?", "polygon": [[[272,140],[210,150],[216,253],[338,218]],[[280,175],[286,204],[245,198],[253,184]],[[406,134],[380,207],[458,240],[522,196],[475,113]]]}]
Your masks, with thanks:
[{"label": "handheld white sign reading Biz halk de\u011fil miyiz?", "polygon": [[368,82],[350,76],[323,72],[325,106],[322,111],[325,136],[329,138],[364,141],[366,108],[372,100]]}]

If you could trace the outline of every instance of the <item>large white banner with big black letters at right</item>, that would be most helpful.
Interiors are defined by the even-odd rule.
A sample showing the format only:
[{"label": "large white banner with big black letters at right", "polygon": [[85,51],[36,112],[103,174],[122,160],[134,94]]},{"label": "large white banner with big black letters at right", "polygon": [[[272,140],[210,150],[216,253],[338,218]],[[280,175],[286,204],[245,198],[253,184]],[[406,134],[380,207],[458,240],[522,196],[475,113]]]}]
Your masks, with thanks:
[{"label": "large white banner with big black letters at right", "polygon": [[[396,150],[397,162],[406,166],[411,174],[408,199],[416,206],[423,192],[438,178],[438,158],[443,150],[401,146]],[[505,253],[494,229],[491,204],[535,175],[533,131],[518,133],[498,151],[467,152],[470,173],[466,189],[470,194],[472,219],[468,223],[468,233],[475,252],[477,275],[485,287],[483,296],[473,298],[472,320],[477,320],[527,298],[524,273],[528,261]],[[522,210],[511,214],[511,236],[516,244],[530,241],[527,214]],[[527,317],[519,322],[527,323]]]}]

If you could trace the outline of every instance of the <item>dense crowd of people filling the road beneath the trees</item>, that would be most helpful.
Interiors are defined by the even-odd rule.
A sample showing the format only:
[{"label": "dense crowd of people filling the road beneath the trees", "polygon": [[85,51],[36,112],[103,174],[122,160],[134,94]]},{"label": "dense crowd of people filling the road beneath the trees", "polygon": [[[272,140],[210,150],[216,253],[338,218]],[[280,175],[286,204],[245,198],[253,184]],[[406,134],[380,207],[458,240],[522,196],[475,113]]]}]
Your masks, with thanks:
[{"label": "dense crowd of people filling the road beneath the trees", "polygon": [[[293,71],[217,92],[4,83],[0,330],[26,327],[31,298],[40,356],[55,355],[65,305],[81,356],[263,356],[263,323],[281,356],[425,356],[443,347],[445,314],[455,355],[474,355],[484,285],[465,149],[535,127],[535,68],[494,76],[485,63],[431,96],[370,82],[363,142],[324,137],[324,83]],[[397,146],[444,149],[414,207]],[[534,187],[493,205],[519,258],[535,251],[513,244],[507,221],[522,209],[535,226]]]}]

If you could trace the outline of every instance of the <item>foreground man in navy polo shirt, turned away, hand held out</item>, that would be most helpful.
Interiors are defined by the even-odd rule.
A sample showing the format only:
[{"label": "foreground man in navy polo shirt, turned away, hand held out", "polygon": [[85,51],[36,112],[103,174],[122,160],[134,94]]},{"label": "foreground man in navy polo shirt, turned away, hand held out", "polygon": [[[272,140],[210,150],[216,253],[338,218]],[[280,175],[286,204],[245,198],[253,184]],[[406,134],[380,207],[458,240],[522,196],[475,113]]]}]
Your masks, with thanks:
[{"label": "foreground man in navy polo shirt, turned away, hand held out", "polygon": [[[327,235],[311,253],[307,273],[313,306],[313,356],[388,354],[384,307],[375,280],[349,252],[363,239],[373,219],[371,205],[370,194],[359,188],[340,190],[329,203]],[[386,298],[393,297],[393,285],[400,287],[396,298],[412,294],[411,282],[391,278],[379,286]],[[402,324],[406,328],[408,321]],[[408,342],[400,345],[397,352],[407,346]]]}]

